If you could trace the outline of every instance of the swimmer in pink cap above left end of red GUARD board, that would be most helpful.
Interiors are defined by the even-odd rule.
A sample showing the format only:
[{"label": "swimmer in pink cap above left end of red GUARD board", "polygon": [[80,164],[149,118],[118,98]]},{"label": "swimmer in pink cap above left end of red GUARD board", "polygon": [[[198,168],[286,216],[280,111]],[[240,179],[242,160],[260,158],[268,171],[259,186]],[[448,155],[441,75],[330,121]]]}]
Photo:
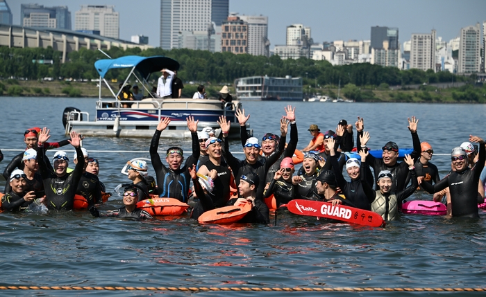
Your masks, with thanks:
[{"label": "swimmer in pink cap above left end of red GUARD board", "polygon": [[274,179],[271,180],[267,190],[263,192],[264,198],[274,195],[277,208],[288,204],[292,199],[296,199],[295,192],[298,186],[292,183],[294,171],[295,165],[292,162],[292,158],[287,156],[280,162],[280,170],[275,172]]}]

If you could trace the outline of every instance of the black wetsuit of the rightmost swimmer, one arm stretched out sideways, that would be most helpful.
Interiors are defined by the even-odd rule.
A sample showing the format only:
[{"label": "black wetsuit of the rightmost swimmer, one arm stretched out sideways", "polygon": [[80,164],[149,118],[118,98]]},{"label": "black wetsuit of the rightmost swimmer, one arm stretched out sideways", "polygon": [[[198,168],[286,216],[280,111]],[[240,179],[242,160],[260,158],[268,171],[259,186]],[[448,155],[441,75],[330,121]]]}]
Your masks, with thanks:
[{"label": "black wetsuit of the rightmost swimmer, one arm stretched out sideways", "polygon": [[451,194],[452,215],[454,217],[479,217],[478,214],[478,182],[485,167],[485,145],[479,145],[479,159],[472,169],[461,172],[451,171],[444,179],[430,185],[423,183],[424,190],[433,194],[449,187]]}]

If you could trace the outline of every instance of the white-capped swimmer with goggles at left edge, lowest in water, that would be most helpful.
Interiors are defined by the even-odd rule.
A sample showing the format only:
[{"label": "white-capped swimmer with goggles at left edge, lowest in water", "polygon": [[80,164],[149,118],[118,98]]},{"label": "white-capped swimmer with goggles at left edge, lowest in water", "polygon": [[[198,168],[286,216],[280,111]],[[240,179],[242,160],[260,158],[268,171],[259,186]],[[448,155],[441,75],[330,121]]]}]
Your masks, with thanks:
[{"label": "white-capped swimmer with goggles at left edge, lowest in water", "polygon": [[[18,212],[25,210],[35,199],[35,192],[25,192],[26,175],[22,170],[16,169],[10,174],[10,192],[1,197],[1,209]],[[44,199],[37,199],[42,203]],[[37,202],[37,201],[36,201]]]}]

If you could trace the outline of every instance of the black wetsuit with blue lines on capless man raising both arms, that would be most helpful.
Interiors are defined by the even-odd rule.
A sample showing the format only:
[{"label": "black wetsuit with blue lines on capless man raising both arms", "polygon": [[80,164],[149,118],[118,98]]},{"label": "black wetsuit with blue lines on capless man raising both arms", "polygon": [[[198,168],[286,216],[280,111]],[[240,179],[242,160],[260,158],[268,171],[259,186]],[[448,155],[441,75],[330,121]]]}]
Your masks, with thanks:
[{"label": "black wetsuit with blue lines on capless man raising both arms", "polygon": [[156,171],[158,195],[160,197],[175,198],[187,203],[191,181],[188,168],[192,168],[192,165],[196,164],[199,159],[199,138],[196,132],[191,133],[192,155],[187,158],[183,168],[171,170],[171,168],[167,168],[167,166],[162,164],[157,152],[160,133],[162,131],[156,129],[150,144],[150,159],[153,169]]}]

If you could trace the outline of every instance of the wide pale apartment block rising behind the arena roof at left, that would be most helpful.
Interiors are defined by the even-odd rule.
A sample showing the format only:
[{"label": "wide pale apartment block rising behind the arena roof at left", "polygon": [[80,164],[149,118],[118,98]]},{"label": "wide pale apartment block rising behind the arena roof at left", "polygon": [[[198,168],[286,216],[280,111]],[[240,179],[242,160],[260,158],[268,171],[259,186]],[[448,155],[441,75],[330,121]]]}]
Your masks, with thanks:
[{"label": "wide pale apartment block rising behind the arena roof at left", "polygon": [[81,6],[74,17],[74,30],[99,31],[99,35],[119,38],[119,14],[115,6],[87,5]]}]

